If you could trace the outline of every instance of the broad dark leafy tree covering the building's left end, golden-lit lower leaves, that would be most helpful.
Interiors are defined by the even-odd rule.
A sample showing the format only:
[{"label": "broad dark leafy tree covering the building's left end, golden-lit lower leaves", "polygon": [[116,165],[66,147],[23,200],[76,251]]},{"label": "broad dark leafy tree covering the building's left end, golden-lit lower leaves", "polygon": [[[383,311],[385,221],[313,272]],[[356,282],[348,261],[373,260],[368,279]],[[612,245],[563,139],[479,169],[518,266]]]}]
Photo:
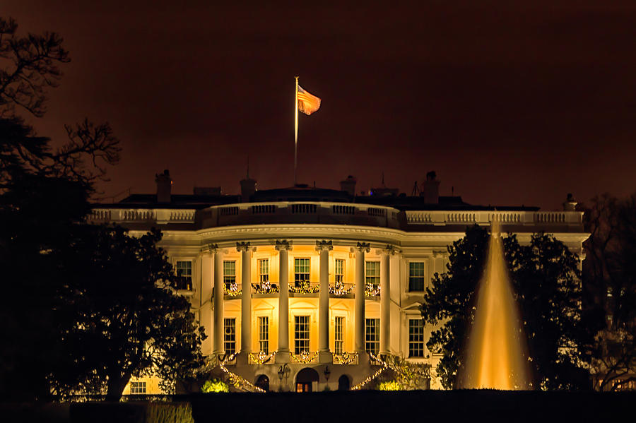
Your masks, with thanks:
[{"label": "broad dark leafy tree covering the building's left end, golden-lit lower leaves", "polygon": [[74,254],[59,258],[67,283],[55,310],[64,355],[52,374],[58,393],[119,398],[131,376],[154,375],[170,389],[204,365],[201,340],[179,279],[156,244],[157,230],[85,227]]}]

